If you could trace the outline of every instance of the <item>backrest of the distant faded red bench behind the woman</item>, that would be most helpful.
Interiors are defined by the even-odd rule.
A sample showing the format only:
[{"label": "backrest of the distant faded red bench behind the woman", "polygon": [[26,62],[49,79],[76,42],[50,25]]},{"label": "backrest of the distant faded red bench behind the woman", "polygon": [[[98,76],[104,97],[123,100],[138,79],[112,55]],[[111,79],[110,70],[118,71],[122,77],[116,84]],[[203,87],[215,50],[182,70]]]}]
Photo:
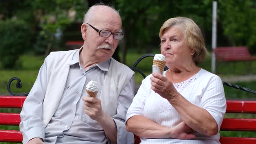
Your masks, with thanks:
[{"label": "backrest of the distant faded red bench behind the woman", "polygon": [[243,60],[251,57],[246,46],[217,47],[214,53],[218,61]]}]

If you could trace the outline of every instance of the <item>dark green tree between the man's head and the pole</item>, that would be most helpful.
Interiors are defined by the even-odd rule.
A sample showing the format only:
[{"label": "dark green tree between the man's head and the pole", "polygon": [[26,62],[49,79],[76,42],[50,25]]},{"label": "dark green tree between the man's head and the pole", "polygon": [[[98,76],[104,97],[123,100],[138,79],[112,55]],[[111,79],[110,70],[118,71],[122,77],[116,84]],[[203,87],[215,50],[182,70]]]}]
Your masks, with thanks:
[{"label": "dark green tree between the man's head and the pole", "polygon": [[201,25],[204,32],[211,33],[211,0],[197,3],[194,0],[115,0],[113,3],[121,10],[126,34],[122,49],[123,63],[128,47],[141,50],[158,46],[160,27],[171,17],[190,17]]}]

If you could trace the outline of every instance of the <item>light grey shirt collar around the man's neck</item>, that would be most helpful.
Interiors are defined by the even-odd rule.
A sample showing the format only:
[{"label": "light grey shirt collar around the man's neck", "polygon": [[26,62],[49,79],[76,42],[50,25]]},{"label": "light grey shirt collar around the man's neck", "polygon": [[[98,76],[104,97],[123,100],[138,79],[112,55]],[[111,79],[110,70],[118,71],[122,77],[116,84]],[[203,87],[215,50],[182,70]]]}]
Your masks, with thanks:
[{"label": "light grey shirt collar around the man's neck", "polygon": [[[79,63],[79,53],[81,52],[82,48],[83,48],[83,46],[75,52],[75,54],[73,55],[72,60],[70,62],[68,62],[67,65],[74,65],[76,63]],[[111,59],[108,59],[105,62],[97,63],[96,66],[98,66],[98,68],[103,70],[103,71],[108,71],[110,61],[111,61]]]}]

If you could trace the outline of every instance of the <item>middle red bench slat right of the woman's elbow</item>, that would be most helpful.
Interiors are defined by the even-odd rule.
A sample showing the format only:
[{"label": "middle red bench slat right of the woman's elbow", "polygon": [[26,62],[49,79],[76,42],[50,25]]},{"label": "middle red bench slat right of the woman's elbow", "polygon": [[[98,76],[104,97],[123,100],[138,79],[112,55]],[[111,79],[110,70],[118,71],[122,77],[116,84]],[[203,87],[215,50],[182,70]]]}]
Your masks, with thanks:
[{"label": "middle red bench slat right of the woman's elbow", "polygon": [[256,131],[256,119],[224,118],[220,131]]}]

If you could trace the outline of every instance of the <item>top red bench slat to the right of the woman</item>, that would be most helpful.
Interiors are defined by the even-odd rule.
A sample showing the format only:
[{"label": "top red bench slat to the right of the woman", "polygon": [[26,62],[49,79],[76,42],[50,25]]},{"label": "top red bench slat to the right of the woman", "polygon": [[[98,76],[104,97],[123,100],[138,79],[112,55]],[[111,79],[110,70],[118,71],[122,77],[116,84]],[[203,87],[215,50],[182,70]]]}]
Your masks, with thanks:
[{"label": "top red bench slat to the right of the woman", "polygon": [[226,101],[226,113],[256,113],[256,101]]}]

